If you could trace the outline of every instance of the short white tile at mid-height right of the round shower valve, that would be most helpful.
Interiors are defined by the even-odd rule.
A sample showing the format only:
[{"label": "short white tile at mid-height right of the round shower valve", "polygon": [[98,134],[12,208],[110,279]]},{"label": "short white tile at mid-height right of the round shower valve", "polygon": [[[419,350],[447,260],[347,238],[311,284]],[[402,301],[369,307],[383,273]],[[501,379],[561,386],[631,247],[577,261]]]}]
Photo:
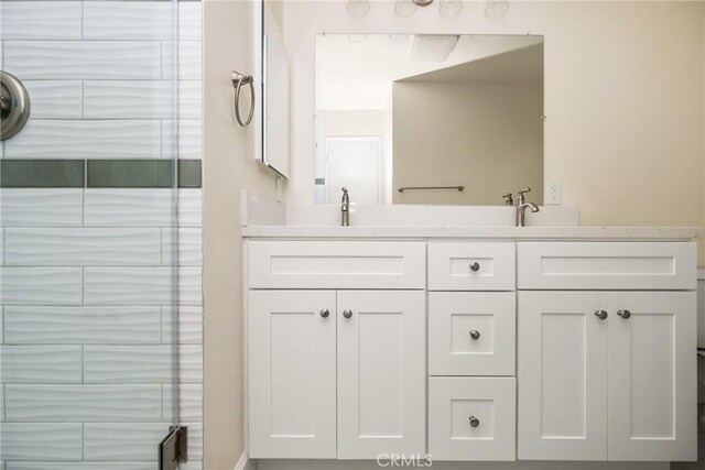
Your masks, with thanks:
[{"label": "short white tile at mid-height right of the round shower valve", "polygon": [[32,119],[82,118],[80,81],[24,80],[24,86],[32,100]]}]

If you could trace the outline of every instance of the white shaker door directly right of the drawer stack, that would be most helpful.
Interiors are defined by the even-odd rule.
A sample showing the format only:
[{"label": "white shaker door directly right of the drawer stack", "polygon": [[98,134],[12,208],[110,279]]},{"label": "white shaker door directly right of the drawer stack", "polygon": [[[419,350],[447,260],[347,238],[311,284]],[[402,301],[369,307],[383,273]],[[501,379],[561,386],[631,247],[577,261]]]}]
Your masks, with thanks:
[{"label": "white shaker door directly right of the drawer stack", "polygon": [[605,293],[520,292],[518,458],[607,459]]}]

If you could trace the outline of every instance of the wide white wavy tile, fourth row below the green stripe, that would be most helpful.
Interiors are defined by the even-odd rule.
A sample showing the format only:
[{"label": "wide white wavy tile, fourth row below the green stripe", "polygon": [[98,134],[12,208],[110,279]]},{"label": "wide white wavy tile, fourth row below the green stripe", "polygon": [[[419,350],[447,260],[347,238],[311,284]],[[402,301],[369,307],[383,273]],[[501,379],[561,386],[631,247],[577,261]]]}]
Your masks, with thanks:
[{"label": "wide white wavy tile, fourth row below the green stripe", "polygon": [[160,307],[6,307],[8,345],[132,345],[161,340]]}]

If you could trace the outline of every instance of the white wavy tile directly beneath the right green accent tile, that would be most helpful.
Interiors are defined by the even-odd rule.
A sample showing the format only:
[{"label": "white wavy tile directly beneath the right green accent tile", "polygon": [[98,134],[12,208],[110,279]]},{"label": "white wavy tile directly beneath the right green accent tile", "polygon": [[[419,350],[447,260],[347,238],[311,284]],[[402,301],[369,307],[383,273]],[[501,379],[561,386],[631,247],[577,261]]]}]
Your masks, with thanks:
[{"label": "white wavy tile directly beneath the right green accent tile", "polygon": [[[172,189],[86,189],[85,226],[171,227],[173,197]],[[188,203],[192,215],[193,196]]]}]

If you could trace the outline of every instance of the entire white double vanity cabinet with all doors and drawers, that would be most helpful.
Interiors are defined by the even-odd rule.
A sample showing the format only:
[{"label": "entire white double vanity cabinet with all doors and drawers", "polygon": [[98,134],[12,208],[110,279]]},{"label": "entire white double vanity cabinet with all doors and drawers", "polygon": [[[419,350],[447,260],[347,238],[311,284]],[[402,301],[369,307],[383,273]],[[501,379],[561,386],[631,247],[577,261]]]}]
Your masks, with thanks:
[{"label": "entire white double vanity cabinet with all doors and drawers", "polygon": [[525,230],[248,240],[250,458],[694,460],[695,243]]}]

